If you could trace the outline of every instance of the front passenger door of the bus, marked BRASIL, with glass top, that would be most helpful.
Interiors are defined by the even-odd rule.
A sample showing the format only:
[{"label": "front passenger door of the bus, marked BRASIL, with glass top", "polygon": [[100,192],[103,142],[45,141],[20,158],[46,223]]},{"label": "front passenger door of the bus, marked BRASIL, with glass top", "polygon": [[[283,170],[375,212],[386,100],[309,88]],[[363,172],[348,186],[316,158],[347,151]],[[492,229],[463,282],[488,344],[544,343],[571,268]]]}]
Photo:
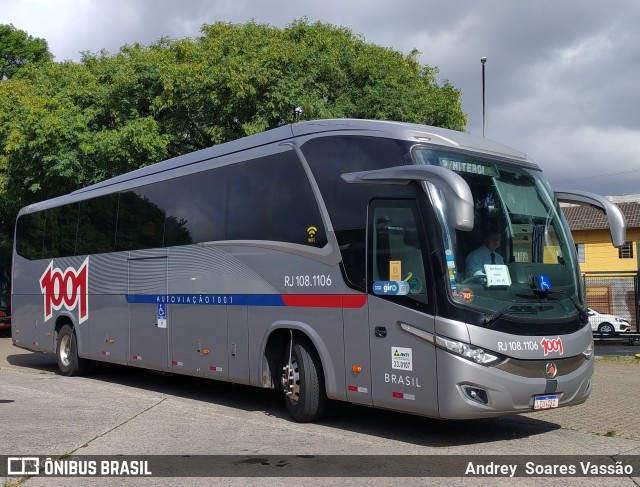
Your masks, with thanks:
[{"label": "front passenger door of the bus, marked BRASIL, with glass top", "polygon": [[373,404],[437,416],[434,298],[418,205],[374,200],[367,226]]}]

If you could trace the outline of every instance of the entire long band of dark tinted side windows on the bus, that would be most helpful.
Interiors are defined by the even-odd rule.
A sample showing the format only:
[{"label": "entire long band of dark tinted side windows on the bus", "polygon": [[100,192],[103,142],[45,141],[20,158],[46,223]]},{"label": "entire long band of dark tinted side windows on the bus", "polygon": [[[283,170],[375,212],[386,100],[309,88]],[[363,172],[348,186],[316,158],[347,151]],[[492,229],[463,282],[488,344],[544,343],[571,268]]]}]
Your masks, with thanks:
[{"label": "entire long band of dark tinted side windows on the bus", "polygon": [[327,243],[293,151],[24,215],[17,236],[29,259],[216,240]]}]

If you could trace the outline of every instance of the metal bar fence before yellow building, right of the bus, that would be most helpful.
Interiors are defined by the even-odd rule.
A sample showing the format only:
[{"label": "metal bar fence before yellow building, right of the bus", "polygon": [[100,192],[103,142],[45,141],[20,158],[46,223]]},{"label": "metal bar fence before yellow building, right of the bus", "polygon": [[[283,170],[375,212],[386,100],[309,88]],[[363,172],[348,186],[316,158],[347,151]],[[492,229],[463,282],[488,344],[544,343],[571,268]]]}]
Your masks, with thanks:
[{"label": "metal bar fence before yellow building, right of the bus", "polygon": [[587,306],[599,313],[629,320],[631,331],[640,332],[638,301],[640,272],[587,272],[583,274]]}]

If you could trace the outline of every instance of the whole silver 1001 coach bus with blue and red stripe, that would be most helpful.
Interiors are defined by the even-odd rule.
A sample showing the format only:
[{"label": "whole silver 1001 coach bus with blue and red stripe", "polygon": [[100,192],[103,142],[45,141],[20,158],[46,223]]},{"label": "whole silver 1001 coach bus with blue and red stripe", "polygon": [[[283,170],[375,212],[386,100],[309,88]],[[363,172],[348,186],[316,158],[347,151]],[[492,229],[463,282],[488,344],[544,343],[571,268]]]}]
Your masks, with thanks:
[{"label": "whole silver 1001 coach bus with blue and red stripe", "polygon": [[69,376],[278,388],[301,422],[328,399],[446,419],[580,404],[593,340],[559,201],[624,243],[615,205],[554,194],[486,139],[283,126],[23,208],[12,341]]}]

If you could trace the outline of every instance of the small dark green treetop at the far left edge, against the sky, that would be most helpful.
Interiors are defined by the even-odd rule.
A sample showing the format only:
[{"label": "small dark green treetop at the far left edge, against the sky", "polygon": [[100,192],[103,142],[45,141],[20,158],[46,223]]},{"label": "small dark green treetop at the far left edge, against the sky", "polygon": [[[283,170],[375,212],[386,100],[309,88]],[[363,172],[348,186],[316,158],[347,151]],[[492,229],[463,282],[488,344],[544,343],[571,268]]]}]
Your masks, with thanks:
[{"label": "small dark green treetop at the far left edge, against the sky", "polygon": [[0,81],[12,78],[28,63],[52,59],[44,39],[31,37],[12,24],[0,25]]}]

